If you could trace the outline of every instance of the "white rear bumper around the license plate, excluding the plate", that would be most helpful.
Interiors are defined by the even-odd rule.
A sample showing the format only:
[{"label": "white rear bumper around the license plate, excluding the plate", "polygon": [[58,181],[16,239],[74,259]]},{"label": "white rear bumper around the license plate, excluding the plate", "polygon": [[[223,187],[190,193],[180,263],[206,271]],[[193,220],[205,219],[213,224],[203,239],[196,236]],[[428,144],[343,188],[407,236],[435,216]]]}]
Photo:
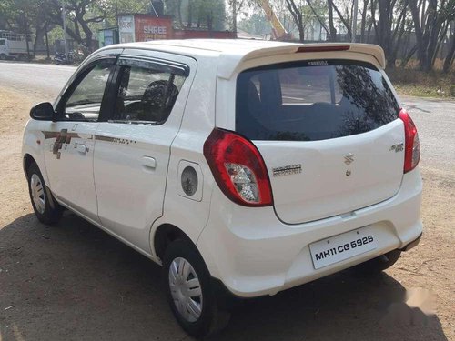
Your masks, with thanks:
[{"label": "white rear bumper around the license plate, excluding the plate", "polygon": [[[211,276],[235,296],[274,295],[355,266],[394,249],[419,243],[421,178],[419,170],[403,176],[399,193],[350,215],[301,225],[278,220],[273,207],[248,208],[231,203],[216,187],[207,226],[197,241]],[[372,226],[376,249],[316,270],[309,244],[362,226]]]}]

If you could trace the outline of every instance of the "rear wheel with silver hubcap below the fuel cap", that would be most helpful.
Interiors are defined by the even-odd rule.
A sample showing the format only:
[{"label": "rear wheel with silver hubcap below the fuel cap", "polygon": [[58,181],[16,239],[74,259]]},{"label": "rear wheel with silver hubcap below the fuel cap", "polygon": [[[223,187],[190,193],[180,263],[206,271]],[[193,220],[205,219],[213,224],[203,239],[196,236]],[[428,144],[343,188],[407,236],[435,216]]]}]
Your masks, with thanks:
[{"label": "rear wheel with silver hubcap below the fuel cap", "polygon": [[190,241],[177,239],[167,246],[163,283],[172,313],[187,334],[205,337],[227,326],[230,314],[218,309],[207,266]]}]

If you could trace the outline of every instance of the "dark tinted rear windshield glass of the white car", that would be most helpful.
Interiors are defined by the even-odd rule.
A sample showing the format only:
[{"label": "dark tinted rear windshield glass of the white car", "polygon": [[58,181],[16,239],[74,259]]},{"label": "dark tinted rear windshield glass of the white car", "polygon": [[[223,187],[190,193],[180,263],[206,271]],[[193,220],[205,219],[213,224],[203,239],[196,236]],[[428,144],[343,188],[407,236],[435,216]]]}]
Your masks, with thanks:
[{"label": "dark tinted rear windshield glass of the white car", "polygon": [[251,140],[316,141],[369,132],[399,105],[369,63],[313,60],[238,75],[236,130]]}]

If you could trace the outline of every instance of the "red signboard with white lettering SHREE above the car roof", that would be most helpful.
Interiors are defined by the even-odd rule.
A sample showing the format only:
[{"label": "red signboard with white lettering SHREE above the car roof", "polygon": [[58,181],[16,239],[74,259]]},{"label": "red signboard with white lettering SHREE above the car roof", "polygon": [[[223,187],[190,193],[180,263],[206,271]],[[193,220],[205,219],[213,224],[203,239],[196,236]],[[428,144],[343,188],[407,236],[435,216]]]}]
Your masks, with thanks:
[{"label": "red signboard with white lettering SHREE above the car roof", "polygon": [[136,42],[172,39],[174,37],[172,19],[167,17],[135,15],[135,32]]}]

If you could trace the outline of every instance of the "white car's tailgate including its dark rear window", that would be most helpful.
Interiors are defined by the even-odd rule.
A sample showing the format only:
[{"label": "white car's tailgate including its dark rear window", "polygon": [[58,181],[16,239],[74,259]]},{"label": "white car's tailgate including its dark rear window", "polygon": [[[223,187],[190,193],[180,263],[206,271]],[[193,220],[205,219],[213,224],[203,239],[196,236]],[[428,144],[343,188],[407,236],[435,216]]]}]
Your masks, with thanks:
[{"label": "white car's tailgate including its dark rear window", "polygon": [[267,65],[238,75],[237,89],[236,130],[258,146],[282,221],[346,214],[398,192],[403,125],[376,66]]}]

